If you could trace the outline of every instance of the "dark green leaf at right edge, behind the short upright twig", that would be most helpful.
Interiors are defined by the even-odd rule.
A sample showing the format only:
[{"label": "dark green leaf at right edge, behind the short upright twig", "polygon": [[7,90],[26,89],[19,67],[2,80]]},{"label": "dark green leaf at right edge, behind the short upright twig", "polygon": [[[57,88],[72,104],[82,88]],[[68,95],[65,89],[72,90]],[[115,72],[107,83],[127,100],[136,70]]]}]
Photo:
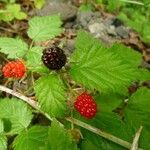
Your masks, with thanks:
[{"label": "dark green leaf at right edge, behind the short upright twig", "polygon": [[150,149],[150,90],[143,87],[138,89],[129,99],[125,109],[125,121],[128,126],[137,132],[142,125],[143,130],[140,136],[140,147]]}]

